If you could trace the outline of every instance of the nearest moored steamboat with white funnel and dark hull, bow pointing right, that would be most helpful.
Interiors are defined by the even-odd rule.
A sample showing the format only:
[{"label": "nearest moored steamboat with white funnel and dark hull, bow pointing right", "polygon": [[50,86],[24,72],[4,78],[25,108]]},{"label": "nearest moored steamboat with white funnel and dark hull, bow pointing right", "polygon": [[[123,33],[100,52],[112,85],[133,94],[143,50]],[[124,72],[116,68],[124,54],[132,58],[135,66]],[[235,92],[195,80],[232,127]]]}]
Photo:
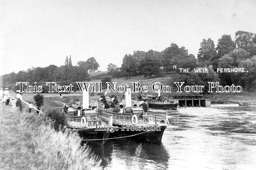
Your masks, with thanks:
[{"label": "nearest moored steamboat with white funnel and dark hull, bow pointing right", "polygon": [[167,114],[153,113],[145,115],[139,106],[132,106],[131,92],[125,94],[125,104],[118,104],[115,108],[106,109],[102,102],[98,102],[100,118],[109,127],[115,127],[110,138],[132,138],[160,144],[164,130],[169,124]]}]

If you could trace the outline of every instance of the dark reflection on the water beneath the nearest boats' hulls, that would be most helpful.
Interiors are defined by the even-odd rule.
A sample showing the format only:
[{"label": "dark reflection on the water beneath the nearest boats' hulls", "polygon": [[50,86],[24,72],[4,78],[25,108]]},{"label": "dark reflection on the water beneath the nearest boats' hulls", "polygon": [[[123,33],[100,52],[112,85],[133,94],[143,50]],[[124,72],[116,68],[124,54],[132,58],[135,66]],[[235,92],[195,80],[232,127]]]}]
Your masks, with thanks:
[{"label": "dark reflection on the water beneath the nearest boats' hulls", "polygon": [[102,159],[103,169],[168,169],[170,157],[163,145],[138,143],[130,139],[109,140],[104,146],[87,145],[92,148],[93,154]]}]

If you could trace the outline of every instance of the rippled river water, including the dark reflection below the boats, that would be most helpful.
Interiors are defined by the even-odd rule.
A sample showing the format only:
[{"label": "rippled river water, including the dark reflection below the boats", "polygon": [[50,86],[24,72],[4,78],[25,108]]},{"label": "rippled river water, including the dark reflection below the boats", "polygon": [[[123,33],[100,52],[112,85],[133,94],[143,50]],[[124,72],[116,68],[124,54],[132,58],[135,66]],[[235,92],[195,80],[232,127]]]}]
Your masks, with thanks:
[{"label": "rippled river water, including the dark reflection below the boats", "polygon": [[[91,146],[104,170],[256,170],[256,109],[216,105],[168,112],[162,144]],[[156,111],[156,110],[154,110]]]}]

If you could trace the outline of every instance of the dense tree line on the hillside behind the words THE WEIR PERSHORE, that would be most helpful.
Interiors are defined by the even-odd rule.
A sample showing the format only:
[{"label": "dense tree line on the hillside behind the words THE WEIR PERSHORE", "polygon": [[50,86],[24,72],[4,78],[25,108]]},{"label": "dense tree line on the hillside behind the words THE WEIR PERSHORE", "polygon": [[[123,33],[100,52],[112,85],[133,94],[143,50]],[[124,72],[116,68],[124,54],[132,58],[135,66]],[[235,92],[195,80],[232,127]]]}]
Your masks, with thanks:
[{"label": "dense tree line on the hillside behind the words THE WEIR PERSHORE", "polygon": [[[173,67],[176,65],[176,68]],[[177,68],[194,69],[207,67],[209,73],[182,74]],[[217,68],[243,67],[248,73],[215,73]],[[188,54],[185,47],[171,43],[161,52],[149,50],[148,52],[134,51],[133,55],[125,54],[122,66],[108,65],[108,72],[112,77],[126,77],[144,75],[151,78],[164,74],[177,73],[177,81],[183,80],[187,85],[204,85],[207,81],[220,81],[223,85],[241,85],[248,91],[256,88],[256,34],[238,31],[233,41],[231,35],[222,35],[215,47],[210,38],[200,43],[197,58]],[[206,85],[207,86],[207,85]]]}]

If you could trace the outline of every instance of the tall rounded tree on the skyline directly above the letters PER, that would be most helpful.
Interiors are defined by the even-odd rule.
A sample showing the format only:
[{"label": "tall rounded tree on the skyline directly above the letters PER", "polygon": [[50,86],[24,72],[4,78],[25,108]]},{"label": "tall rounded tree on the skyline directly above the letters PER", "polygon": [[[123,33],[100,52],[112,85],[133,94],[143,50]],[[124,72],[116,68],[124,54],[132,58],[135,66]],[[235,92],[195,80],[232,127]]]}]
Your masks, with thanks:
[{"label": "tall rounded tree on the skyline directly above the letters PER", "polygon": [[216,50],[218,51],[218,58],[225,54],[232,52],[235,49],[235,42],[232,41],[230,35],[222,35],[218,40]]}]

